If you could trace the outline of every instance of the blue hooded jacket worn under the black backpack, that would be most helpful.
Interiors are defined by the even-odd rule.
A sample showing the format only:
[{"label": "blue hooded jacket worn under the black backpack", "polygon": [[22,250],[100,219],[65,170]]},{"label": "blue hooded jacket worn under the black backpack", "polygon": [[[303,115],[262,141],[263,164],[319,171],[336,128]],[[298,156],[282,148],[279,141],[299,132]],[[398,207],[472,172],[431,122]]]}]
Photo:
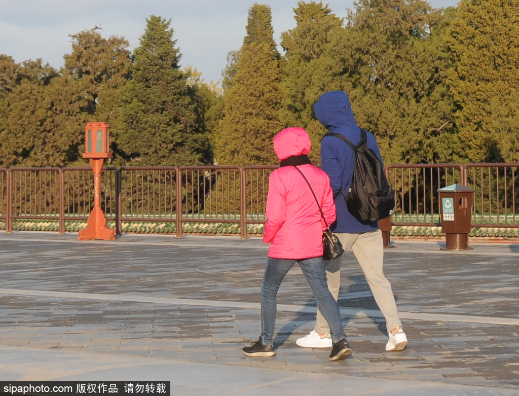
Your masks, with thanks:
[{"label": "blue hooded jacket worn under the black backpack", "polygon": [[[329,132],[340,133],[351,143],[357,145],[360,141],[360,128],[353,117],[350,99],[346,92],[331,91],[321,95],[313,106],[317,119]],[[380,158],[375,136],[367,132],[367,146]],[[350,214],[346,207],[343,194],[348,194],[355,165],[353,149],[334,136],[325,136],[321,141],[321,169],[330,177],[333,190],[337,220],[332,225],[336,233],[362,234],[378,229],[378,222],[360,223]]]}]

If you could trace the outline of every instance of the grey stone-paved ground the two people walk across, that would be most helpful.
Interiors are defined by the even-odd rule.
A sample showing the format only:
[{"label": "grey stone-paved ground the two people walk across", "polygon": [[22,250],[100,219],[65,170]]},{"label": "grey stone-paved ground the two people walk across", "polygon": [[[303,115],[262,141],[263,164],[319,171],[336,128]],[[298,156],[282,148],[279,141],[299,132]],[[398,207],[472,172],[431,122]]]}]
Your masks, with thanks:
[{"label": "grey stone-paved ground the two people walk across", "polygon": [[354,256],[339,305],[353,354],[299,348],[316,304],[295,266],[281,285],[277,355],[260,334],[260,238],[0,233],[0,380],[170,380],[175,395],[519,394],[519,241],[394,241],[385,273],[409,345],[385,321]]}]

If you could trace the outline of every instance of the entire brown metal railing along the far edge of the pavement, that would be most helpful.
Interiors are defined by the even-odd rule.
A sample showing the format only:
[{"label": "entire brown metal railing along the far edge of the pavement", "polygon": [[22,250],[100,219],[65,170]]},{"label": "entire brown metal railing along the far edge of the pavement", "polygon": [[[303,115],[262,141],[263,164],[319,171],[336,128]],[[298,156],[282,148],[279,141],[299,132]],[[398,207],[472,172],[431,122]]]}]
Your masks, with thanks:
[{"label": "entire brown metal railing along the far edge of the pavement", "polygon": [[[242,238],[265,223],[268,179],[277,166],[103,168],[101,208],[120,235],[129,224],[160,223],[177,237],[188,224],[234,227]],[[392,226],[439,226],[438,189],[474,189],[472,227],[519,228],[519,163],[388,165]],[[60,233],[86,221],[94,201],[90,168],[0,169],[0,223],[53,221]],[[259,231],[258,231],[259,230]],[[160,229],[154,229],[160,232]]]}]

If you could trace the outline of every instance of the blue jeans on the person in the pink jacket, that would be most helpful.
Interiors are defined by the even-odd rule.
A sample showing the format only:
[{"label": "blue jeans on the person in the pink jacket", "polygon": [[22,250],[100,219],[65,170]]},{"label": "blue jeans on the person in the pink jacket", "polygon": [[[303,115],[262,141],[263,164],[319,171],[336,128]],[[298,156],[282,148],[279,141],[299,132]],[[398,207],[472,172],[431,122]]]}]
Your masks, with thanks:
[{"label": "blue jeans on the person in the pink jacket", "polygon": [[286,260],[268,257],[261,286],[261,341],[263,345],[274,345],[274,327],[276,324],[277,295],[285,275],[295,263],[303,270],[310,284],[313,295],[322,308],[326,321],[330,324],[330,333],[334,343],[346,338],[339,306],[326,283],[326,272],[322,257],[304,260]]}]

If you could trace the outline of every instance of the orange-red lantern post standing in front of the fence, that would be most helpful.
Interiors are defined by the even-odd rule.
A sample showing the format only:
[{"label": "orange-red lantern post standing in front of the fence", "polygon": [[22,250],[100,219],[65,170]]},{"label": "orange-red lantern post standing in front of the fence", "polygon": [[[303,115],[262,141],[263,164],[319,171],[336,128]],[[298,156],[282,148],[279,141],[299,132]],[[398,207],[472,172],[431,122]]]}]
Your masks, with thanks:
[{"label": "orange-red lantern post standing in front of the fence", "polygon": [[85,128],[85,154],[90,159],[94,171],[94,207],[88,216],[87,227],[79,230],[80,241],[90,239],[115,240],[115,230],[106,227],[106,216],[101,210],[101,169],[105,158],[112,158],[108,153],[110,127],[106,122],[89,122]]}]

